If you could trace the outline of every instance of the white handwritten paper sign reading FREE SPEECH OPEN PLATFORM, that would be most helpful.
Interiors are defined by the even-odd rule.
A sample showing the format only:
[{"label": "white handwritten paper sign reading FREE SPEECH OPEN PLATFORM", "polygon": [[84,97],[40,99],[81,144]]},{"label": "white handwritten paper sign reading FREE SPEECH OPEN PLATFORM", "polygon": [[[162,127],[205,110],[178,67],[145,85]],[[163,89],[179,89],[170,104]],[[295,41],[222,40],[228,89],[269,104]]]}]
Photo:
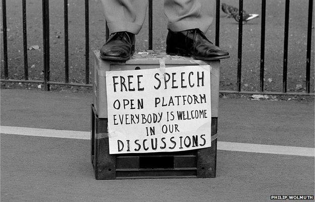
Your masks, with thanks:
[{"label": "white handwritten paper sign reading FREE SPEECH OPEN PLATFORM", "polygon": [[211,146],[208,65],[106,72],[110,154]]}]

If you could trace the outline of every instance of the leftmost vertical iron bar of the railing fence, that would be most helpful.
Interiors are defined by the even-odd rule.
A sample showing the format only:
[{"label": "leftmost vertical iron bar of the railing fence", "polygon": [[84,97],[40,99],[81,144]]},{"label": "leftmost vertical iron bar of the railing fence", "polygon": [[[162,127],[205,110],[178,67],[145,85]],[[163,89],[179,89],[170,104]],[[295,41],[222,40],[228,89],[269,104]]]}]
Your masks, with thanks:
[{"label": "leftmost vertical iron bar of the railing fence", "polygon": [[6,5],[6,0],[2,0],[2,23],[3,23],[3,37],[4,37],[5,79],[8,79],[9,78],[9,71],[8,71],[8,37],[7,37],[7,5]]}]

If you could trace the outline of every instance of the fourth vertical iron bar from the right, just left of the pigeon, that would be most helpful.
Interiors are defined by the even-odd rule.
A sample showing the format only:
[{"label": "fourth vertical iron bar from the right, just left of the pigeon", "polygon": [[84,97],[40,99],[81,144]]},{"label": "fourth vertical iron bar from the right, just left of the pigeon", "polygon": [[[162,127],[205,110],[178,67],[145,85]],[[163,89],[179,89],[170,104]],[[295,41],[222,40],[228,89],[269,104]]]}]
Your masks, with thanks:
[{"label": "fourth vertical iron bar from the right, just left of the pigeon", "polygon": [[242,73],[242,37],[243,37],[243,0],[239,0],[238,54],[237,54],[237,90],[241,91]]}]

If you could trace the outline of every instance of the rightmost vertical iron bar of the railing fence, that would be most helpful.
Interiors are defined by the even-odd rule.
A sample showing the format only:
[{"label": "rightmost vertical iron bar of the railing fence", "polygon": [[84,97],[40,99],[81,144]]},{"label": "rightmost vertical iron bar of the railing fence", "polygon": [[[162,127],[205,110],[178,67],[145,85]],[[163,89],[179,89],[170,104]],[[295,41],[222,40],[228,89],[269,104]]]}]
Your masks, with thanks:
[{"label": "rightmost vertical iron bar of the railing fence", "polygon": [[306,45],[306,91],[309,89],[309,76],[310,76],[310,48],[311,48],[311,25],[313,13],[313,0],[308,1],[308,23],[307,23],[307,45]]}]

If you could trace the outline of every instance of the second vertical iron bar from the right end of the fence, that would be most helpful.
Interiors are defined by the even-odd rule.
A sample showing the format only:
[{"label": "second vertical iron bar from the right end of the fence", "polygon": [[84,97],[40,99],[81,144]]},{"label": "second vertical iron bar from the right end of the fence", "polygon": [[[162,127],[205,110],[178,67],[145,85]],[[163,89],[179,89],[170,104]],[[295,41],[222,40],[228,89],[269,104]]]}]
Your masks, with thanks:
[{"label": "second vertical iron bar from the right end of the fence", "polygon": [[285,2],[284,19],[284,48],[283,48],[283,92],[287,92],[287,72],[288,72],[288,37],[289,37],[289,6],[290,0]]}]

